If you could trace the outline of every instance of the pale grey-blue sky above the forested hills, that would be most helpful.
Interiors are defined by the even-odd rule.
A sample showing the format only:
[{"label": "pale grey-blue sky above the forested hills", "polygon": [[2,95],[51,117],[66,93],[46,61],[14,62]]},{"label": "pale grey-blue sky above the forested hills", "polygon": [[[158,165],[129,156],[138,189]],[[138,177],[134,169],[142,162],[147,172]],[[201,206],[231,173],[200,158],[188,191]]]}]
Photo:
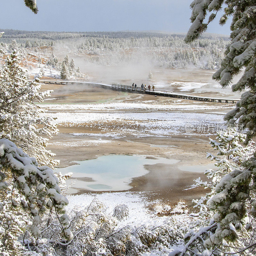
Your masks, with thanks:
[{"label": "pale grey-blue sky above the forested hills", "polygon": [[[158,30],[186,33],[192,0],[37,0],[32,13],[23,0],[1,3],[0,28],[41,31]],[[208,32],[229,34],[215,20]]]}]

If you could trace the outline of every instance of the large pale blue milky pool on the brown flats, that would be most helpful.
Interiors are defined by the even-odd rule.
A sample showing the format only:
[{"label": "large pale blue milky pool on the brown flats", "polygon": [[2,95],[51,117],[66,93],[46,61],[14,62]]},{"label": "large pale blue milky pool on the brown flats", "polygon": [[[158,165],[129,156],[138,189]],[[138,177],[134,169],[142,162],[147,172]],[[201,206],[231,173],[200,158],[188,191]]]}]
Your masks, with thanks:
[{"label": "large pale blue milky pool on the brown flats", "polygon": [[[76,180],[73,188],[85,188],[94,191],[117,191],[131,188],[132,178],[145,175],[148,171],[145,164],[176,164],[175,159],[158,157],[147,159],[141,155],[108,155],[97,159],[75,161],[75,165],[59,168],[62,173],[73,172],[74,178],[89,177],[95,181],[86,182]],[[70,181],[68,181],[70,182]],[[67,183],[68,183],[67,182]]]}]

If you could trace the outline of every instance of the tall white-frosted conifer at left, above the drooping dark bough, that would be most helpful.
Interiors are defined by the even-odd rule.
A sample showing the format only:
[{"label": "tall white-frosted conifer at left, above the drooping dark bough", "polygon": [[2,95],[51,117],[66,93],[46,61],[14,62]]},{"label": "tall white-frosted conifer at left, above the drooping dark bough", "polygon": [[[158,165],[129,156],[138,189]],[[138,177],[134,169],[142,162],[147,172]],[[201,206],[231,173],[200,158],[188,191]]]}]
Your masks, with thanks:
[{"label": "tall white-frosted conifer at left, above the drooping dark bough", "polygon": [[20,54],[14,50],[0,68],[0,138],[12,140],[40,164],[55,165],[58,162],[46,146],[47,137],[58,130],[54,120],[41,116],[44,110],[35,104],[50,96],[51,91],[39,92],[39,78],[29,83],[19,63]]}]

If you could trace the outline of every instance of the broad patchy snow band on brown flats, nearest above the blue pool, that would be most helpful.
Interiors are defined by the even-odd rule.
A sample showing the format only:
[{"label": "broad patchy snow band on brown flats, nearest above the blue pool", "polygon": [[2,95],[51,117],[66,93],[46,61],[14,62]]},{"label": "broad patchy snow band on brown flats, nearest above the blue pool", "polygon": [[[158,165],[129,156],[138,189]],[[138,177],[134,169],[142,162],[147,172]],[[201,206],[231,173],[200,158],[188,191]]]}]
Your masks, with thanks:
[{"label": "broad patchy snow band on brown flats, nearest above the blue pool", "polygon": [[[97,128],[112,136],[147,135],[165,136],[172,134],[197,135],[213,133],[223,129],[223,114],[180,113],[180,112],[57,112],[46,115],[57,117],[63,126],[78,126],[88,130]],[[88,132],[88,131],[87,131]],[[144,133],[143,133],[144,132]],[[89,135],[89,134],[88,134]],[[105,134],[106,136],[106,134]],[[112,137],[111,136],[111,137]]]}]

